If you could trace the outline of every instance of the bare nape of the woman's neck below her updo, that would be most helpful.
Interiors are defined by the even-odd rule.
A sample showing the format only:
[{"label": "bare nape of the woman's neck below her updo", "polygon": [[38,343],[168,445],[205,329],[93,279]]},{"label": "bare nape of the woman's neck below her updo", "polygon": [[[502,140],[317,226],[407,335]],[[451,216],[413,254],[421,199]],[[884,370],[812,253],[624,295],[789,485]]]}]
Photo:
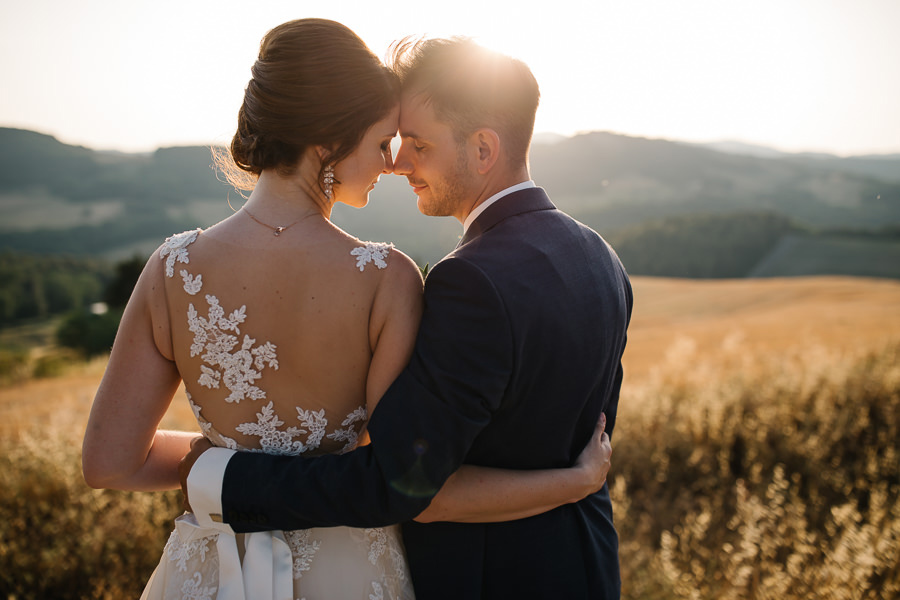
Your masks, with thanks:
[{"label": "bare nape of the woman's neck below her updo", "polygon": [[275,219],[292,219],[313,211],[330,219],[334,202],[325,197],[315,185],[315,179],[304,171],[298,169],[285,176],[275,169],[264,170],[244,206],[254,215],[259,212]]}]

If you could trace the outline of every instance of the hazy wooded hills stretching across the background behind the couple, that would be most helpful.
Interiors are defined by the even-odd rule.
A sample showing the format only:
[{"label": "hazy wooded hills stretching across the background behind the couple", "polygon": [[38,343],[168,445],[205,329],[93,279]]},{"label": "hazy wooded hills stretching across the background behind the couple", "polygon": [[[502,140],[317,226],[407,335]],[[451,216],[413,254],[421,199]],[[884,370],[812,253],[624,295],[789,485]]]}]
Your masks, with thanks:
[{"label": "hazy wooded hills stretching across the background behind the couple", "polygon": [[[743,276],[786,235],[900,231],[900,156],[760,156],[759,148],[728,149],[604,132],[542,135],[530,162],[535,181],[557,206],[617,240],[629,262],[643,265],[641,272],[657,273],[665,263],[669,271],[662,274]],[[166,236],[209,226],[241,205],[211,163],[205,147],[97,152],[0,128],[0,249],[146,255]],[[366,209],[338,205],[333,216],[361,238],[395,242],[420,264],[438,260],[461,233],[455,219],[419,214],[401,177],[382,176]],[[751,221],[756,225],[747,229]],[[671,256],[653,258],[724,256],[733,248],[723,246],[735,238],[711,232],[738,231],[732,226],[741,224],[755,233],[730,262],[700,261],[701,268],[699,259],[685,267]],[[647,242],[660,239],[669,245]]]}]

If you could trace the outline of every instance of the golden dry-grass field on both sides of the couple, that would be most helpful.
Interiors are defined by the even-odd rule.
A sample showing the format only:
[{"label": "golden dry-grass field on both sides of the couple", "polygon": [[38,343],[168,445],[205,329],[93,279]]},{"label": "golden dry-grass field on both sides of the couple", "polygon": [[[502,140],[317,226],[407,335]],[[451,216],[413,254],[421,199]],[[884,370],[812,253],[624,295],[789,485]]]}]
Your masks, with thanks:
[{"label": "golden dry-grass field on both sides of the couple", "polygon": [[[623,597],[900,597],[900,282],[633,279]],[[0,389],[0,595],[136,597],[177,493],[86,488],[103,360]],[[163,423],[193,428],[179,394]]]}]

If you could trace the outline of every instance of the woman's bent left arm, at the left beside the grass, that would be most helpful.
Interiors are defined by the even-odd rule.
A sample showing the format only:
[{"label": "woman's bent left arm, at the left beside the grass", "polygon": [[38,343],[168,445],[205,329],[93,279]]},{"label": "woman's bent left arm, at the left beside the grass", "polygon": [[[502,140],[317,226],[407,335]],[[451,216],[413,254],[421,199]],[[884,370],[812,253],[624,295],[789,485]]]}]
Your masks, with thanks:
[{"label": "woman's bent left arm, at the left beside the grass", "polygon": [[176,489],[178,462],[197,437],[157,430],[181,382],[157,340],[168,336],[158,263],[154,253],[135,286],[94,397],[82,447],[84,478],[94,488]]}]

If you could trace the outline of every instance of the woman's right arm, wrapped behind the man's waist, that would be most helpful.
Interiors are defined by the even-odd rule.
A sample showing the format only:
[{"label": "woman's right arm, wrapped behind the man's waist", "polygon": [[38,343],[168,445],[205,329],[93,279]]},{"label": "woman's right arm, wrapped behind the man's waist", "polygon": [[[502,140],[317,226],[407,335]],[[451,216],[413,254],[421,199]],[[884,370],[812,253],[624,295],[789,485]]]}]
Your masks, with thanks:
[{"label": "woman's right arm, wrapped behind the man's waist", "polygon": [[[370,323],[369,414],[409,362],[422,314],[418,269],[402,253],[392,254],[395,260],[379,286]],[[416,520],[509,521],[581,500],[603,486],[609,471],[612,448],[604,425],[605,419],[571,468],[508,470],[463,465]]]}]

